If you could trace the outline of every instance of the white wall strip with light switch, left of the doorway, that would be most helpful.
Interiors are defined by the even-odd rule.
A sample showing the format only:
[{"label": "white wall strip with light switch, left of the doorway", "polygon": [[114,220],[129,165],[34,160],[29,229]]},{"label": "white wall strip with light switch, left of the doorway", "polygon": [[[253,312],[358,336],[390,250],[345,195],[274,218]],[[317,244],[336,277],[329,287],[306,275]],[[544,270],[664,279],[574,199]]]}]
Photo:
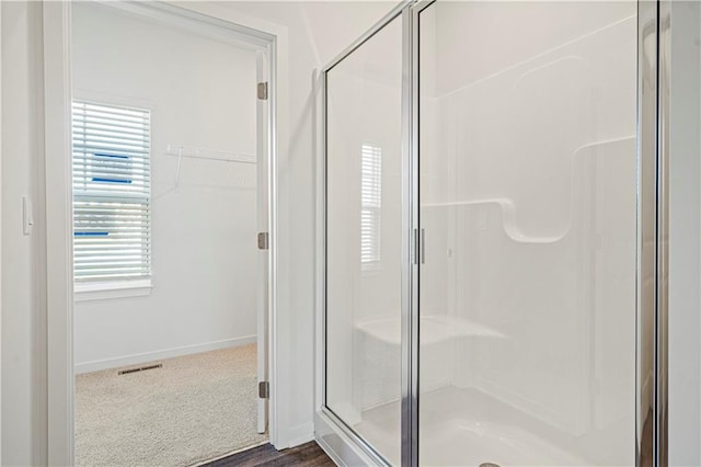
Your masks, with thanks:
[{"label": "white wall strip with light switch, left of the doorway", "polygon": [[[2,3],[2,465],[38,465],[46,456],[45,273],[35,270],[39,239],[24,236],[22,196],[39,195],[43,151],[41,3]],[[37,227],[43,224],[35,205]],[[37,379],[42,378],[42,379]]]}]

